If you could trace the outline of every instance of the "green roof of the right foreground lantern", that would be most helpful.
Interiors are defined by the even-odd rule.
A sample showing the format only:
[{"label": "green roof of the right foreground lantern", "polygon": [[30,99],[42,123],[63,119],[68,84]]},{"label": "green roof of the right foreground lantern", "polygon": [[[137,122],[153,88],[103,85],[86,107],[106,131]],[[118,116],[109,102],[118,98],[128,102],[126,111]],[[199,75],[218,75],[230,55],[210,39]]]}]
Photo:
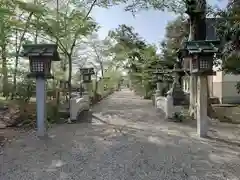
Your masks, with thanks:
[{"label": "green roof of the right foreground lantern", "polygon": [[179,50],[179,55],[218,53],[221,45],[219,40],[186,41],[184,44],[185,48]]}]

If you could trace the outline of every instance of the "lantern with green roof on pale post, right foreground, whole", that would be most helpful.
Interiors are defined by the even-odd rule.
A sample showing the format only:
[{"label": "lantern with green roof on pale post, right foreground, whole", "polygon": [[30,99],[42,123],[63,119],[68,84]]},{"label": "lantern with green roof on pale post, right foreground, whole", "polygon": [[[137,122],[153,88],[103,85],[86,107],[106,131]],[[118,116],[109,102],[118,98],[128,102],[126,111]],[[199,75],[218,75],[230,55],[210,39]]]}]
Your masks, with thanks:
[{"label": "lantern with green roof on pale post, right foreground, whole", "polygon": [[185,42],[185,56],[191,56],[191,75],[197,79],[197,132],[200,137],[206,137],[208,132],[208,80],[206,76],[215,75],[213,71],[214,55],[219,53],[220,41],[199,40]]}]

